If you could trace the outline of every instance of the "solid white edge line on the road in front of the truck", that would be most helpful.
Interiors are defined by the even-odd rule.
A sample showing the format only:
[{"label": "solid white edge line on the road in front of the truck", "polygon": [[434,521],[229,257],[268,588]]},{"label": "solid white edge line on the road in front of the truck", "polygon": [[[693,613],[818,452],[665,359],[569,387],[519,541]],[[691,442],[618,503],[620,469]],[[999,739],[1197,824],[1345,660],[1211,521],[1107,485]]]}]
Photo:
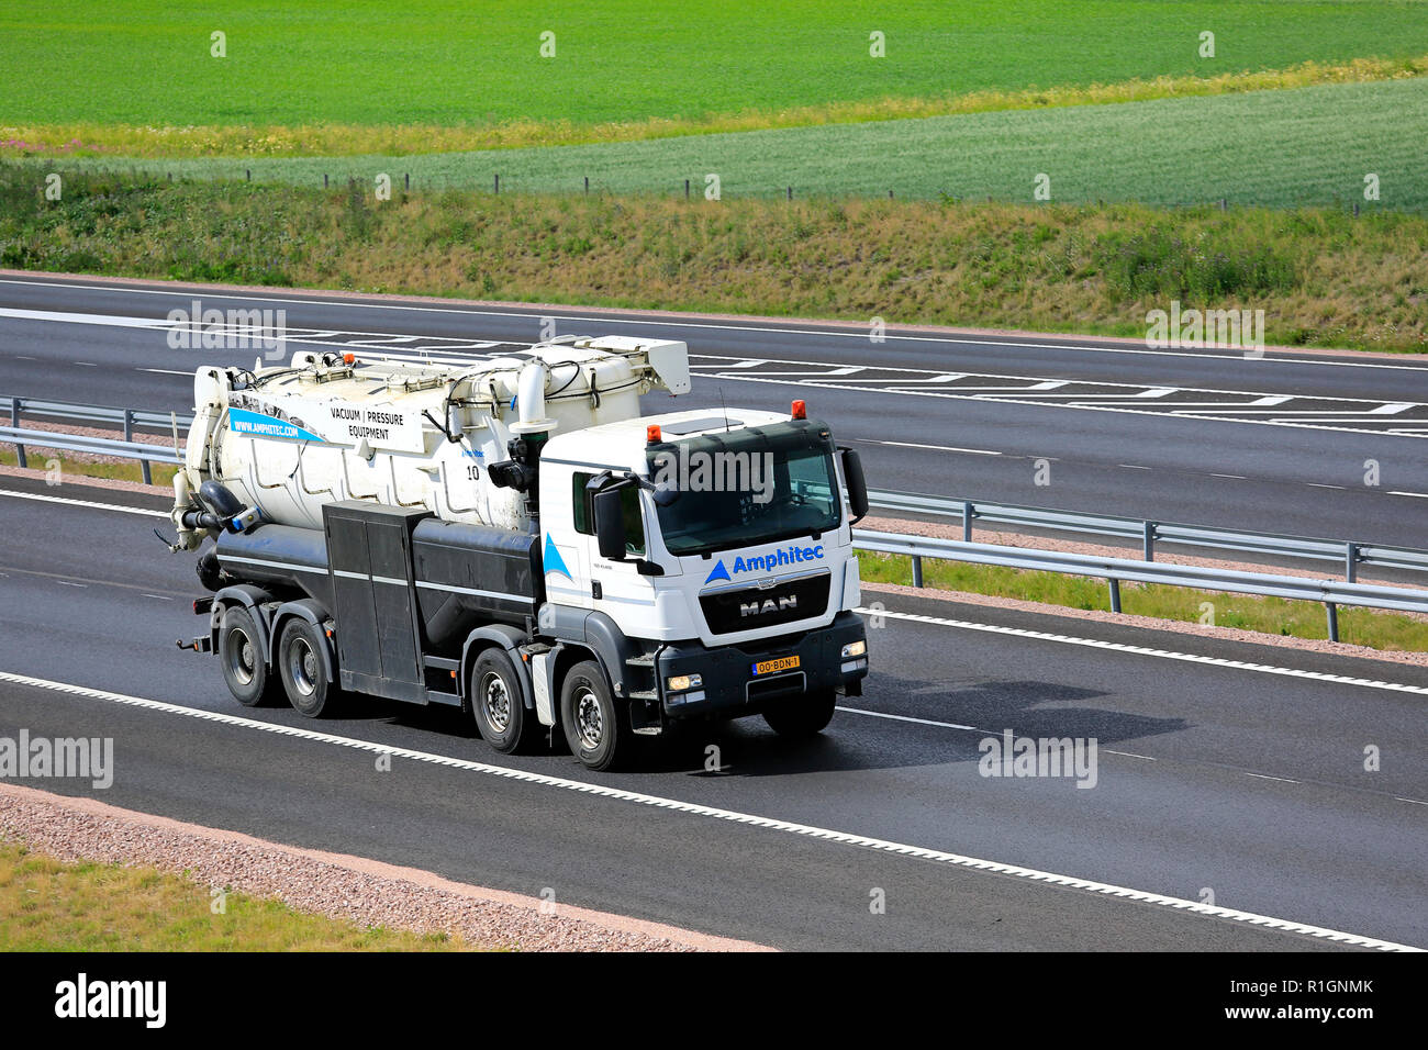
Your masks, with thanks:
[{"label": "solid white edge line on the road in front of the truck", "polygon": [[1021,867],[1018,864],[1002,864],[995,860],[981,860],[978,857],[967,857],[958,853],[931,850],[922,846],[910,846],[905,843],[895,843],[884,839],[870,839],[867,836],[853,834],[850,831],[837,831],[827,827],[815,827],[813,824],[798,824],[790,820],[761,817],[753,813],[740,813],[737,810],[724,810],[713,806],[700,806],[697,803],[681,801],[680,799],[664,799],[655,794],[627,791],[618,787],[591,784],[584,780],[568,780],[565,777],[553,777],[544,773],[528,773],[527,770],[510,769],[506,766],[491,766],[483,761],[454,759],[447,754],[414,751],[407,747],[393,747],[388,744],[378,744],[371,740],[357,740],[353,737],[341,737],[331,733],[317,733],[314,730],[301,729],[297,726],[278,726],[267,721],[257,721],[254,719],[243,719],[236,714],[203,711],[194,707],[181,707],[178,704],[163,703],[160,700],[149,700],[144,697],[127,696],[124,693],[110,693],[101,689],[87,689],[84,686],[73,686],[64,681],[51,681],[49,679],[33,679],[26,674],[13,674],[10,671],[0,671],[0,681],[9,681],[16,686],[29,686],[31,689],[46,689],[56,693],[69,693],[70,696],[80,696],[90,700],[101,700],[106,703],[124,704],[127,707],[140,707],[144,710],[160,711],[164,714],[176,714],[186,719],[197,719],[200,721],[216,721],[224,726],[254,730],[258,733],[273,733],[276,736],[296,737],[298,740],[310,740],[313,743],[320,743],[320,744],[351,747],[354,750],[368,751],[373,754],[390,754],[393,757],[407,759],[410,761],[424,761],[436,766],[447,766],[450,769],[460,769],[471,773],[481,773],[486,776],[503,777],[506,780],[517,780],[527,784],[553,787],[564,791],[577,791],[580,794],[590,794],[600,799],[611,799],[615,801],[627,801],[627,803],[634,803],[637,806],[651,806],[655,809],[674,810],[677,813],[687,813],[690,816],[697,816],[697,817],[727,820],[735,824],[761,827],[770,831],[784,831],[788,834],[807,836],[810,839],[821,839],[824,841],[838,843],[841,846],[861,846],[870,850],[880,850],[883,853],[895,853],[898,856],[915,857],[918,860],[931,860],[941,864],[951,864],[954,867],[965,867],[977,871],[992,871],[995,874],[1012,876],[1015,879],[1025,879],[1030,881],[1045,883],[1048,886],[1061,886],[1071,890],[1084,890],[1088,893],[1120,897],[1122,900],[1131,900],[1140,904],[1154,904],[1158,907],[1174,909],[1175,911],[1190,911],[1200,916],[1210,916],[1215,919],[1228,919],[1237,923],[1247,923],[1250,926],[1262,926],[1265,929],[1281,930],[1284,933],[1298,933],[1319,940],[1331,940],[1339,944],[1378,949],[1381,951],[1422,951],[1422,949],[1414,947],[1411,944],[1398,944],[1395,941],[1381,940],[1378,937],[1367,937],[1364,934],[1357,934],[1357,933],[1344,933],[1342,930],[1331,930],[1322,926],[1309,926],[1307,923],[1295,923],[1287,919],[1261,916],[1252,911],[1240,911],[1238,909],[1202,904],[1200,901],[1184,900],[1181,897],[1168,897],[1161,893],[1134,890],[1125,886],[1098,883],[1090,879],[1078,879],[1075,876],[1057,874],[1054,871],[1038,871],[1037,869]]}]

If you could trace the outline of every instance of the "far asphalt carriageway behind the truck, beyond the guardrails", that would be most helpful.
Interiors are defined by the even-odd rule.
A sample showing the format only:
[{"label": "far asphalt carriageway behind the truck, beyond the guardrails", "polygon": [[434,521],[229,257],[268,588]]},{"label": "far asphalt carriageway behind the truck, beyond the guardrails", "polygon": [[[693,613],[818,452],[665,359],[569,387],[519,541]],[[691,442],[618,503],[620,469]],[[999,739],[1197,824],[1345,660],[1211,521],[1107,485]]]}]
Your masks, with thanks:
[{"label": "far asphalt carriageway behind the truck, beyond the guardrails", "polygon": [[[197,360],[250,364],[256,356],[169,347],[166,311],[190,309],[196,294],[220,309],[287,310],[288,327],[308,340],[290,340],[288,350],[381,344],[390,353],[437,347],[444,356],[470,357],[491,353],[473,349],[481,343],[537,339],[545,316],[557,317],[557,333],[685,336],[695,354],[695,399],[717,403],[723,396],[733,404],[777,409],[804,397],[843,440],[858,444],[878,487],[1428,546],[1424,439],[1382,433],[1422,429],[1415,426],[1414,406],[1428,401],[1428,376],[1417,359],[1358,361],[1305,353],[1245,360],[1224,350],[1151,353],[1105,340],[931,333],[870,344],[855,330],[801,323],[324,300],[316,293],[223,297],[36,276],[0,279],[0,391],[53,397],[64,390],[67,400],[188,407],[187,377]],[[27,313],[13,316],[17,311]],[[41,320],[36,311],[83,311],[104,323]],[[134,321],[159,327],[133,327]],[[914,370],[911,379],[885,371],[894,367]],[[854,371],[831,374],[844,370]],[[995,386],[978,373],[1020,379],[1010,380],[1010,391],[977,393],[971,387]],[[961,379],[924,381],[948,376]],[[1125,384],[1124,396],[1091,396],[1088,383]],[[1052,389],[1025,393],[1028,386]],[[1240,393],[1200,394],[1190,387]],[[1141,397],[1145,393],[1155,396]],[[992,396],[1011,400],[981,400]],[[1265,396],[1279,403],[1244,407]],[[1088,407],[1025,403],[1038,397]],[[1181,414],[1145,409],[1201,397],[1230,399],[1245,421],[1187,417],[1200,411],[1192,407],[1175,410]],[[1352,404],[1339,416],[1324,416],[1331,404],[1325,399],[1352,399]],[[650,410],[664,404],[664,396],[648,399]],[[1255,414],[1287,410],[1292,411],[1285,420],[1317,423],[1268,424],[1272,416]]]}]

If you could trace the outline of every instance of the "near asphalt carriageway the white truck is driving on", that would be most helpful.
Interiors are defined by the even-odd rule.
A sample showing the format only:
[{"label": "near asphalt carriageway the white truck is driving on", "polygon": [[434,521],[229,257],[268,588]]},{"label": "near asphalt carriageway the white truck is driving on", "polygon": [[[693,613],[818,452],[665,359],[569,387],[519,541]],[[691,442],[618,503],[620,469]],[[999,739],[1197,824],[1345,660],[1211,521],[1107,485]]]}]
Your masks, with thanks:
[{"label": "near asphalt carriageway the white truck is driving on", "polygon": [[[160,506],[151,497],[80,486],[56,490],[4,479],[0,487]],[[238,709],[211,659],[169,647],[201,623],[186,606],[194,593],[193,559],[169,556],[150,536],[151,524],[161,521],[0,497],[0,670],[313,727],[287,709]],[[885,603],[890,614],[881,626],[874,621],[871,633],[867,696],[850,699],[831,733],[807,746],[790,747],[750,721],[687,731],[641,771],[591,774],[567,754],[494,756],[464,736],[450,711],[360,701],[347,717],[317,727],[1190,900],[1210,889],[1222,906],[1428,944],[1421,910],[1428,859],[1421,711],[1428,671],[915,599]],[[898,613],[974,621],[984,630],[914,623]],[[1028,639],[1015,633],[1021,629],[1198,653],[1217,663]],[[1228,666],[1232,660],[1299,674]],[[1419,691],[1325,680],[1331,674]],[[40,731],[37,724],[77,731],[74,726],[90,719],[119,719],[121,756],[134,754],[141,776],[116,786],[126,793],[110,793],[117,804],[421,863],[504,889],[538,893],[558,881],[574,894],[561,899],[663,921],[691,921],[695,914],[703,929],[790,947],[1025,946],[1038,930],[1044,946],[1164,946],[1161,931],[1142,929],[1140,919],[1121,940],[1088,930],[1082,904],[1067,897],[1075,896],[1071,891],[1040,887],[1055,901],[1067,900],[1018,900],[1017,909],[1037,916],[1035,926],[1000,930],[997,920],[1011,914],[998,896],[1000,877],[984,876],[997,884],[992,889],[970,889],[961,879],[938,881],[945,871],[930,876],[914,861],[873,860],[861,850],[805,851],[807,843],[757,836],[754,843],[730,841],[727,829],[678,820],[665,826],[663,819],[651,826],[645,813],[618,807],[603,810],[591,824],[608,853],[601,844],[588,856],[577,849],[588,813],[571,811],[564,799],[507,797],[503,787],[487,813],[483,780],[467,793],[441,789],[440,806],[424,814],[423,800],[434,797],[430,784],[411,781],[410,794],[391,797],[368,783],[373,777],[357,776],[366,771],[360,761],[333,759],[337,769],[330,770],[328,759],[318,756],[314,769],[321,771],[311,780],[297,767],[306,760],[296,757],[268,779],[261,763],[237,776],[230,767],[241,763],[231,751],[248,744],[234,744],[217,729],[164,721],[156,730],[154,714],[116,716],[93,703],[34,699],[11,686],[0,687],[0,697],[6,720],[33,731]],[[40,719],[43,711],[53,717]],[[11,721],[20,717],[40,721]],[[1095,737],[1097,787],[1077,789],[1067,779],[981,777],[980,741],[1004,729]],[[720,774],[704,771],[710,744],[720,747]],[[1381,749],[1381,771],[1362,769],[1369,744]],[[210,753],[224,773],[201,773]],[[223,789],[227,776],[236,776],[231,791]],[[314,804],[293,806],[304,791]],[[350,793],[361,799],[360,814],[343,806]],[[526,834],[528,806],[541,816]],[[457,826],[464,830],[457,833]],[[503,846],[478,849],[493,841]],[[514,843],[508,861],[507,841]],[[731,851],[721,854],[725,849]],[[637,874],[631,857],[638,857]],[[545,881],[534,884],[538,879]],[[887,883],[897,887],[890,900],[910,901],[912,914],[902,913],[898,923],[864,923],[868,889]],[[705,884],[715,891],[695,889]],[[917,921],[901,923],[914,916]],[[1244,944],[1235,940],[1238,931],[1225,933],[1215,920],[1180,919],[1178,944]],[[1301,946],[1297,937],[1285,939]]]}]

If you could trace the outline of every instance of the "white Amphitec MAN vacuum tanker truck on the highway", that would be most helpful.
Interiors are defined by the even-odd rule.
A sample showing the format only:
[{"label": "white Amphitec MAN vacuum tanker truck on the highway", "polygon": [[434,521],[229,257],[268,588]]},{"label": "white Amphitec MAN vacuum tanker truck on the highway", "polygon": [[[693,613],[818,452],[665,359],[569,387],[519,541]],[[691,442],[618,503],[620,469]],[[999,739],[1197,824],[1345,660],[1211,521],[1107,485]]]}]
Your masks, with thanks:
[{"label": "white Amphitec MAN vacuum tanker truck on the highway", "polygon": [[868,670],[857,453],[801,401],[641,417],[655,389],[688,393],[684,343],[200,367],[171,549],[211,540],[213,594],[178,644],[247,706],[460,706],[597,770],[677,720],[821,731]]}]

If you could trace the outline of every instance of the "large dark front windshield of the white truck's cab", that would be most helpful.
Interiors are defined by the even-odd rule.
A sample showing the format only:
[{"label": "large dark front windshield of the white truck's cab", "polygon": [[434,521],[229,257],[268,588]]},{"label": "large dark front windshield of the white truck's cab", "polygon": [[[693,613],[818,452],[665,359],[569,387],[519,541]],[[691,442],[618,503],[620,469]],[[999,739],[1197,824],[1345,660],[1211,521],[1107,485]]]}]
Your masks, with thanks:
[{"label": "large dark front windshield of the white truck's cab", "polygon": [[653,446],[650,479],[680,493],[658,509],[664,546],[704,554],[837,529],[833,453],[827,427],[811,420]]}]

